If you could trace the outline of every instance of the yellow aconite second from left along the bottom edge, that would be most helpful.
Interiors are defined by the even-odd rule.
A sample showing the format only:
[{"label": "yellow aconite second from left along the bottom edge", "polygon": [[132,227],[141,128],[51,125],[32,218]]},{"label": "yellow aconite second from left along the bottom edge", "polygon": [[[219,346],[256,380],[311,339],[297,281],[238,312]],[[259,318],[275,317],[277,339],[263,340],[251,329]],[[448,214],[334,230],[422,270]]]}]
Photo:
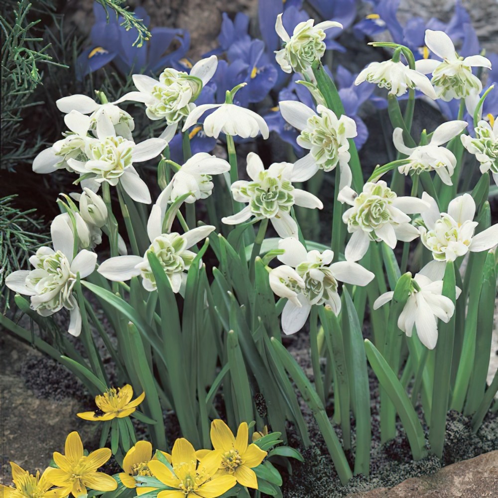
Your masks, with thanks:
[{"label": "yellow aconite second from left along the bottom edge", "polygon": [[80,435],[71,432],[64,446],[65,455],[54,453],[54,462],[58,469],[53,469],[48,479],[55,486],[60,486],[61,496],[74,497],[87,494],[87,488],[95,491],[114,491],[118,487],[115,479],[102,472],[97,472],[110,458],[109,448],[92,451],[88,456],[83,453],[83,443]]}]

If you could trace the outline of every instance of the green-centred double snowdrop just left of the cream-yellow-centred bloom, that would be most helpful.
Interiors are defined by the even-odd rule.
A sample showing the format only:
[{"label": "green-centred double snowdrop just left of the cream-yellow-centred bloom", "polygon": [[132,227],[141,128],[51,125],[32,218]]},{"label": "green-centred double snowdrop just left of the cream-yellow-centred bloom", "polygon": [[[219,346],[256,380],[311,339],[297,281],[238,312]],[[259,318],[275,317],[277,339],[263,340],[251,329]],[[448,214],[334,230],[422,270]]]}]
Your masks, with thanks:
[{"label": "green-centred double snowdrop just left of the cream-yellow-centred bloom", "polygon": [[398,240],[416,239],[419,231],[410,224],[408,215],[429,209],[427,202],[416,197],[398,197],[382,180],[366,183],[359,195],[345,187],[338,200],[352,206],[343,214],[343,222],[353,234],[345,250],[348,261],[361,259],[371,241],[383,241],[394,249]]}]

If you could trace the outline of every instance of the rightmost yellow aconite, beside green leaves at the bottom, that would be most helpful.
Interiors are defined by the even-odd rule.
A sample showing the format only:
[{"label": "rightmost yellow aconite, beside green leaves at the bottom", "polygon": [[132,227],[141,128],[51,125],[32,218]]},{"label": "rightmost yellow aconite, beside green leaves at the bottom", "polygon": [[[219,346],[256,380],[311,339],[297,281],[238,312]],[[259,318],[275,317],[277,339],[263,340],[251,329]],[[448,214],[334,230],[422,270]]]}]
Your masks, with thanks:
[{"label": "rightmost yellow aconite, beside green leaves at the bottom", "polygon": [[237,482],[247,488],[257,490],[256,474],[252,470],[266,456],[266,452],[255,444],[248,445],[249,427],[242,422],[237,431],[237,438],[223,420],[211,422],[211,443],[214,450],[200,450],[197,458],[206,458],[212,453],[218,454],[219,475],[234,476]]}]

